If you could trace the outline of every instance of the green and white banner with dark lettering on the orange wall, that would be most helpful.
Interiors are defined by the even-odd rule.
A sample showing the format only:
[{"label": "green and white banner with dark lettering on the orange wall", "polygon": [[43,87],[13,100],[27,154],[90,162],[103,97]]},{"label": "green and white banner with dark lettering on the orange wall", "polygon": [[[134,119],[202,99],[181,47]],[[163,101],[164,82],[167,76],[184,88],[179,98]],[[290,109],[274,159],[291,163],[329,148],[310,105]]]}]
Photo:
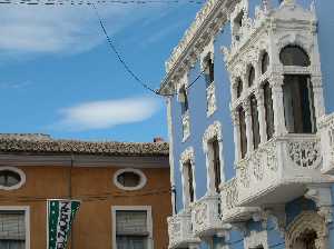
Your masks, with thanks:
[{"label": "green and white banner with dark lettering on the orange wall", "polygon": [[78,200],[48,200],[48,249],[66,249]]}]

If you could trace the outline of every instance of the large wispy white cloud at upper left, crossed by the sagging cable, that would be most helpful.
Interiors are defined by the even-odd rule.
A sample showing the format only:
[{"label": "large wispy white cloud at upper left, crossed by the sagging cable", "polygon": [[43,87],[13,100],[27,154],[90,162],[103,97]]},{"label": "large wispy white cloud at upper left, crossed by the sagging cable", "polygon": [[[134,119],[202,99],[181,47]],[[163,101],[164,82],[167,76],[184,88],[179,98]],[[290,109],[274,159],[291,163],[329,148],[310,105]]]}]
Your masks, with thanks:
[{"label": "large wispy white cloud at upper left, crossed by the sagging cable", "polygon": [[[99,6],[108,32],[114,34],[140,18],[135,6]],[[0,52],[12,54],[76,53],[105,41],[90,6],[1,6]]]}]

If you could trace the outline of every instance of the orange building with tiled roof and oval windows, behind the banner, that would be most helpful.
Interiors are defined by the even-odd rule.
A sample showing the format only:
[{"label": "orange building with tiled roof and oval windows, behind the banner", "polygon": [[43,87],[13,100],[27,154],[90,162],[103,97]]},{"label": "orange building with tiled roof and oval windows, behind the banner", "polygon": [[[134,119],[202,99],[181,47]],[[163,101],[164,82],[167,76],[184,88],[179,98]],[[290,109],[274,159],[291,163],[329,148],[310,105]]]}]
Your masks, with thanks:
[{"label": "orange building with tiled roof and oval windows, behind the banner", "polygon": [[168,145],[0,135],[0,248],[47,248],[47,200],[78,199],[69,248],[164,249]]}]

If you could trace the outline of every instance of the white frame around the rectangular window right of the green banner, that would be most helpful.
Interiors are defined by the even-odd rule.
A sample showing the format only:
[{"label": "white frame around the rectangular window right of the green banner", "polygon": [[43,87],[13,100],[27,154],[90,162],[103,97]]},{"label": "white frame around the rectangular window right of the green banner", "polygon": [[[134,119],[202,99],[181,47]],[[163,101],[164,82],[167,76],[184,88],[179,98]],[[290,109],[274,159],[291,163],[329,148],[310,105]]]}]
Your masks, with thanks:
[{"label": "white frame around the rectangular window right of the green banner", "polygon": [[147,248],[154,249],[154,237],[153,237],[153,213],[151,213],[151,206],[112,206],[111,207],[111,225],[112,225],[112,247],[111,249],[117,249],[117,242],[116,242],[116,212],[117,211],[146,211],[147,213],[147,230],[149,232],[148,235],[148,241],[147,241]]}]

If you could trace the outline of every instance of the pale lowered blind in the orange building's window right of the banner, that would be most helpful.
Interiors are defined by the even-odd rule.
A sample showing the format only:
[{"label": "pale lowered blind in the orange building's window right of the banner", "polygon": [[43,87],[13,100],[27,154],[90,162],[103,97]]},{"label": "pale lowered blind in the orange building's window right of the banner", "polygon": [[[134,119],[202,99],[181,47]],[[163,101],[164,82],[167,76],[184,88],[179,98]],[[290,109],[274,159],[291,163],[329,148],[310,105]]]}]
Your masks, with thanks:
[{"label": "pale lowered blind in the orange building's window right of the banner", "polygon": [[148,235],[146,211],[117,211],[116,212],[117,235]]}]

